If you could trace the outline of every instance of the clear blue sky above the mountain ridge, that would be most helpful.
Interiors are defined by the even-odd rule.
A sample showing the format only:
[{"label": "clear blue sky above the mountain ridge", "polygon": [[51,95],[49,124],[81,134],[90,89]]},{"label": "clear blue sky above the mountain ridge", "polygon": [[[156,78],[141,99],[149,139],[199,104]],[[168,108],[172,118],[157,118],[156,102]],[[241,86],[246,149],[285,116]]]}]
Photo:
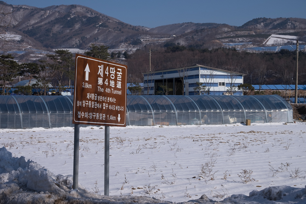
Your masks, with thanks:
[{"label": "clear blue sky above the mountain ridge", "polygon": [[259,17],[306,18],[304,11],[306,0],[6,0],[6,2],[39,8],[78,4],[125,23],[149,28],[184,22],[241,26]]}]

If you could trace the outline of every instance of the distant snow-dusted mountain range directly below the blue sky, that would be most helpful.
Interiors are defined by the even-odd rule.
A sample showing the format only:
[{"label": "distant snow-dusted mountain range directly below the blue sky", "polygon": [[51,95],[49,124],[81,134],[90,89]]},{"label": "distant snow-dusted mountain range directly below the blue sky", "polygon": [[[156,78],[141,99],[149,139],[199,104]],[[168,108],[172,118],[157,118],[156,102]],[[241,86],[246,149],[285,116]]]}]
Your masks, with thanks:
[{"label": "distant snow-dusted mountain range directly below the blue sky", "polygon": [[[7,2],[10,3],[10,2]],[[178,23],[147,28],[126,24],[94,9],[80,5],[60,5],[37,8],[10,5],[0,1],[0,8],[13,12],[2,18],[2,24],[11,24],[7,32],[21,36],[12,42],[10,51],[26,49],[49,50],[78,48],[87,50],[91,43],[110,49],[133,53],[144,46],[165,42],[180,43],[200,49],[222,47],[223,43],[252,42],[259,46],[271,34],[306,35],[306,19],[256,18],[242,26],[216,23]]]}]

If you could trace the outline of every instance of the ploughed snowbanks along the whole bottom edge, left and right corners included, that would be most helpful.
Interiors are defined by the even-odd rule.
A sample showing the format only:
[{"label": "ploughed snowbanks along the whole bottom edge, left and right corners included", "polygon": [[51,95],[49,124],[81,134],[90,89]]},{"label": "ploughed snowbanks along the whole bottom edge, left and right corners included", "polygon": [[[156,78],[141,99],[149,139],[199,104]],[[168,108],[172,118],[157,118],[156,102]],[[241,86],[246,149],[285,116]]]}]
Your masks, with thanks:
[{"label": "ploughed snowbanks along the whole bottom edge, left and right corners included", "polygon": [[[171,203],[147,196],[102,196],[85,190],[72,189],[73,176],[55,176],[38,163],[21,156],[12,157],[5,147],[0,148],[0,200],[2,203]],[[249,196],[232,195],[223,201],[213,201],[205,194],[184,203],[297,203],[306,202],[305,188],[290,186],[268,187],[252,191]]]}]

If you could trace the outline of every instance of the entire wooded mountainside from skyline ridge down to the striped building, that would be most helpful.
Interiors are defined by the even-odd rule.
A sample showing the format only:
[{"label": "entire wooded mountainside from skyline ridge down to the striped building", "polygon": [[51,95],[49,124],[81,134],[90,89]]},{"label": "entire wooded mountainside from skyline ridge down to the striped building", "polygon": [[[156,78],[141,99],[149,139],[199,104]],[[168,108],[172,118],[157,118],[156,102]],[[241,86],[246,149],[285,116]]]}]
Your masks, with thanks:
[{"label": "entire wooded mountainside from skyline ridge down to the striped building", "polygon": [[[14,60],[22,66],[31,68],[33,65],[33,69],[38,66],[43,70],[51,66],[59,67],[58,63],[62,60],[56,57],[67,55],[69,61],[73,61],[74,55],[69,51],[73,48],[86,53],[93,47],[102,46],[108,49],[109,60],[128,65],[128,82],[143,81],[142,73],[149,71],[151,49],[151,70],[199,64],[243,73],[244,83],[292,84],[295,80],[295,52],[280,50],[275,53],[251,53],[242,51],[242,48],[263,46],[271,34],[294,35],[300,43],[306,42],[306,19],[300,18],[261,17],[239,27],[187,22],[146,28],[126,24],[80,5],[36,8],[0,1],[0,8],[0,35],[17,36],[2,41],[5,42],[1,44],[5,54],[1,59],[3,63]],[[229,48],[225,47],[226,43],[238,45]],[[301,84],[306,84],[305,59],[305,50],[301,50]],[[13,84],[14,77],[18,75],[21,72],[14,72],[9,80],[1,81],[7,80]],[[72,76],[73,63],[65,62],[64,69],[57,69],[54,76],[50,77],[50,82],[54,86],[65,86],[69,84],[69,79],[73,80]]]}]

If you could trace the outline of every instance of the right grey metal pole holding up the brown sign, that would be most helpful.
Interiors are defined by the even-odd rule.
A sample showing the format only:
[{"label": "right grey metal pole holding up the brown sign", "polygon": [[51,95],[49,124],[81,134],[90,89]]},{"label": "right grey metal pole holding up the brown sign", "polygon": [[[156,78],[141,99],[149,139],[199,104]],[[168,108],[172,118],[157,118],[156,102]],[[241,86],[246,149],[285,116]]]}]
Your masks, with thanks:
[{"label": "right grey metal pole holding up the brown sign", "polygon": [[105,126],[104,131],[104,195],[109,195],[110,184],[110,126]]}]

